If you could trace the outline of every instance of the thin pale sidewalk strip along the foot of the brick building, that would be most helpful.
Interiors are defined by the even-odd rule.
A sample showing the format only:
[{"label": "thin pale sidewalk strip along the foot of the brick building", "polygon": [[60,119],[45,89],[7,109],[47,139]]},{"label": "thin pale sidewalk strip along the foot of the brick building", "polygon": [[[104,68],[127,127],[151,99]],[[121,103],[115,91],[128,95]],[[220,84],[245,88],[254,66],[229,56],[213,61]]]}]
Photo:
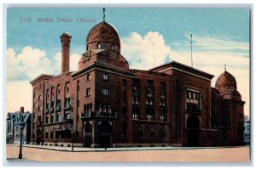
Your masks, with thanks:
[{"label": "thin pale sidewalk strip along the foot of the brick building", "polygon": [[[19,146],[19,144],[9,144],[10,146]],[[23,144],[22,147],[37,148],[44,150],[59,150],[69,152],[96,152],[96,151],[127,151],[127,150],[203,150],[203,149],[220,149],[220,148],[241,148],[248,146],[229,146],[229,147],[127,147],[127,148],[79,148],[64,147],[64,146],[49,146],[49,145],[34,145],[34,144]]]}]

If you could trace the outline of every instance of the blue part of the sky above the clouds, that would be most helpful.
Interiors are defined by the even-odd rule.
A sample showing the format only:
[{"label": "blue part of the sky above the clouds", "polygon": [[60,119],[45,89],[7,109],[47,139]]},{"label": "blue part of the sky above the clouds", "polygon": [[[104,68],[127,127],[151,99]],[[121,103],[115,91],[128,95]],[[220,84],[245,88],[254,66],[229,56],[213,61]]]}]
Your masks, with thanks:
[{"label": "blue part of the sky above the clouds", "polygon": [[[32,21],[20,22],[21,17],[31,17]],[[96,22],[39,23],[40,17],[55,20],[81,17]],[[243,8],[107,8],[106,20],[117,28],[120,37],[134,31],[141,35],[160,32],[166,44],[176,50],[186,50],[176,43],[188,41],[190,33],[249,42],[249,11]],[[102,8],[9,8],[7,47],[20,52],[24,46],[33,45],[53,55],[60,50],[61,33],[69,32],[76,47],[73,51],[82,54],[88,31],[101,21]]]}]

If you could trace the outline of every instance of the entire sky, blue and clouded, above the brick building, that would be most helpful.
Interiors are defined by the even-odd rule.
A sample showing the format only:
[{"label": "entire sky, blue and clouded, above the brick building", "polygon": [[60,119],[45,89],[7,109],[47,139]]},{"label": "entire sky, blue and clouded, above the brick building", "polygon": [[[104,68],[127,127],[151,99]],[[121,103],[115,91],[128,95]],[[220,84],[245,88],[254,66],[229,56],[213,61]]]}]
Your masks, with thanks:
[{"label": "entire sky, blue and clouded, above the brick building", "polygon": [[[105,14],[119,33],[121,53],[130,68],[148,70],[172,60],[191,65],[192,34],[193,66],[214,75],[214,87],[226,64],[249,115],[247,8],[106,8]],[[19,111],[20,106],[32,111],[29,82],[41,73],[61,73],[63,32],[72,35],[70,70],[76,71],[90,28],[102,20],[102,8],[8,8],[7,112]]]}]

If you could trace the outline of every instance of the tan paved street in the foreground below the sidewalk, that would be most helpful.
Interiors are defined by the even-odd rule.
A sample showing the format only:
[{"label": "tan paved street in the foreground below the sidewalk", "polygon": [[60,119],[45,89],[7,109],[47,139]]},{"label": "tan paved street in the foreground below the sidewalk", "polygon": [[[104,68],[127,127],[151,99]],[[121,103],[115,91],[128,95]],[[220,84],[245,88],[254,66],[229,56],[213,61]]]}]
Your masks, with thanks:
[{"label": "tan paved street in the foreground below the sidewalk", "polygon": [[[249,162],[249,147],[232,148],[108,148],[82,149],[26,145],[23,148],[25,161],[115,161],[115,162]],[[132,149],[132,150],[131,150]],[[18,158],[19,146],[7,145],[6,157]]]}]

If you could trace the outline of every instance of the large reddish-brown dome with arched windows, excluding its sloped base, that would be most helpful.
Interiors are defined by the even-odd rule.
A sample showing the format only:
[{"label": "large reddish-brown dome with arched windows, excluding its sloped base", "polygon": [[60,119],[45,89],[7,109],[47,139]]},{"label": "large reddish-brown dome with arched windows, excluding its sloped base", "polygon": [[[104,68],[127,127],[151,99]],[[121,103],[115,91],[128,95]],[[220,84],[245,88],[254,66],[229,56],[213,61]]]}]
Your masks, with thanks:
[{"label": "large reddish-brown dome with arched windows, excluding its sloped base", "polygon": [[90,29],[86,38],[86,49],[108,49],[120,53],[118,32],[105,21]]}]

